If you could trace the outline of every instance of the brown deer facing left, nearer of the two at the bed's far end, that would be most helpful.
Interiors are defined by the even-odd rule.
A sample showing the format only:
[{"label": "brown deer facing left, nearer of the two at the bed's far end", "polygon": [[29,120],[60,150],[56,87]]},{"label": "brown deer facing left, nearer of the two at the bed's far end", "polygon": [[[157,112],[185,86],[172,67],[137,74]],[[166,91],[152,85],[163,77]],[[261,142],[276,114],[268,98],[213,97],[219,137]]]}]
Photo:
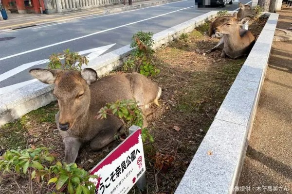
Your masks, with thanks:
[{"label": "brown deer facing left, nearer of the two at the bed's far end", "polygon": [[[239,20],[235,13],[233,16],[218,17],[210,25],[210,37],[219,37],[220,34],[222,34],[220,42],[223,42],[221,44],[224,46],[221,52],[221,57],[224,58],[228,56],[229,58],[237,59],[249,54],[255,44],[255,37],[251,32],[240,29],[240,25],[242,25],[247,19],[248,17]],[[217,48],[219,47],[218,45]],[[211,52],[217,48],[214,47],[208,51]]]}]

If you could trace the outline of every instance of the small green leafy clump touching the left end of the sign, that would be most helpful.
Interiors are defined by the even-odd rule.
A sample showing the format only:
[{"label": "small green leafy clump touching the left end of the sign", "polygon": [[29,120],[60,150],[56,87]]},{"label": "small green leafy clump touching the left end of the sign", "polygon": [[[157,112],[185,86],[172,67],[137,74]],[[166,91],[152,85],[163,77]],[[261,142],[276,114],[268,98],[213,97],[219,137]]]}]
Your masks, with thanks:
[{"label": "small green leafy clump touching the left end of the sign", "polygon": [[69,194],[94,193],[95,185],[89,179],[98,178],[98,176],[90,175],[84,169],[78,168],[76,163],[57,162],[56,165],[50,167],[50,170],[55,173],[55,177],[48,181],[48,185],[55,183],[57,191],[63,192],[67,187]]}]

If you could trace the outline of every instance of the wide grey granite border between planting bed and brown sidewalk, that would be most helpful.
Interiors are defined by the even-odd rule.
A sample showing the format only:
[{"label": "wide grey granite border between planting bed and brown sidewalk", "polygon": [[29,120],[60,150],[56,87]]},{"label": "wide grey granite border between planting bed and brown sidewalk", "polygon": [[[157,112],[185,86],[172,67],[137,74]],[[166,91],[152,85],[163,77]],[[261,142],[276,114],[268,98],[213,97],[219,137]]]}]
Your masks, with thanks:
[{"label": "wide grey granite border between planting bed and brown sidewalk", "polygon": [[269,19],[175,194],[235,193],[278,20],[278,14],[264,14]]}]

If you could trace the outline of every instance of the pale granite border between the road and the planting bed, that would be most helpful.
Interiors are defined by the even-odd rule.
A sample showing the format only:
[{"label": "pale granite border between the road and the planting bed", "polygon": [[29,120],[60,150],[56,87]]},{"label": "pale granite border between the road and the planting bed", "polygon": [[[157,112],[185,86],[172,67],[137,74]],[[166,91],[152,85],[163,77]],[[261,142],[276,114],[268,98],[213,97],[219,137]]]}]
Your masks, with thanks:
[{"label": "pale granite border between the road and the planting bed", "polygon": [[[216,16],[217,12],[211,11],[154,34],[154,49],[172,41],[181,33],[193,31],[196,27],[204,23],[206,19]],[[130,51],[129,45],[113,50],[90,60],[88,67],[95,69],[98,76],[102,76],[121,66],[123,59],[130,54]],[[0,95],[0,126],[56,100],[52,92],[53,89],[54,85],[47,85],[36,81],[8,94]]]}]

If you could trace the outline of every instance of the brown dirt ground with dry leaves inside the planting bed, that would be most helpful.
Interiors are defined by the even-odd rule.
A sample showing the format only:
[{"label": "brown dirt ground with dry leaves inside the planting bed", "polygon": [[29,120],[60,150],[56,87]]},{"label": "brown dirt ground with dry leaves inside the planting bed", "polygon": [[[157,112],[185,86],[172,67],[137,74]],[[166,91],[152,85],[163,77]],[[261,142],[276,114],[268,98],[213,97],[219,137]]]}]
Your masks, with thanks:
[{"label": "brown dirt ground with dry leaves inside the planting bed", "polygon": [[[249,22],[256,37],[265,22],[266,19]],[[174,193],[245,61],[245,58],[220,58],[220,49],[203,55],[219,42],[219,39],[206,35],[208,28],[209,23],[206,23],[189,33],[186,42],[172,41],[155,53],[155,66],[161,69],[161,73],[152,80],[163,88],[162,106],[153,107],[154,113],[147,117],[154,143],[144,144],[147,168],[147,190],[144,193]],[[56,112],[57,105],[53,102],[28,113],[16,123],[7,124],[0,129],[1,149],[46,146],[62,160],[64,146],[55,126]],[[113,142],[100,152],[92,152],[85,146],[76,163],[90,170],[119,143]],[[155,165],[163,169],[159,170]],[[9,175],[1,177],[0,182],[0,193],[18,193]],[[25,179],[21,183],[26,190],[28,183]],[[135,187],[130,191],[131,194],[139,192]]]}]

